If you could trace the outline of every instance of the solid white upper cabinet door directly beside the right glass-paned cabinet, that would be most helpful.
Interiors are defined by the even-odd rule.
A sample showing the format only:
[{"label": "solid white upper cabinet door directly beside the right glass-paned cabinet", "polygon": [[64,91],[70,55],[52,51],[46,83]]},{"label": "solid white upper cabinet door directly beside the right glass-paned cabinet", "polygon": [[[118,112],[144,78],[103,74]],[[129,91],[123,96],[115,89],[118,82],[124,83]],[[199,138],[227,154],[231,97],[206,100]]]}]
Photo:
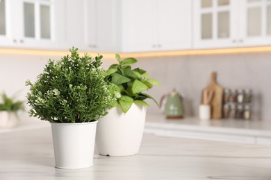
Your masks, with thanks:
[{"label": "solid white upper cabinet door directly beside the right glass-paned cabinet", "polygon": [[158,48],[163,51],[192,47],[192,3],[187,0],[159,0],[156,30]]}]

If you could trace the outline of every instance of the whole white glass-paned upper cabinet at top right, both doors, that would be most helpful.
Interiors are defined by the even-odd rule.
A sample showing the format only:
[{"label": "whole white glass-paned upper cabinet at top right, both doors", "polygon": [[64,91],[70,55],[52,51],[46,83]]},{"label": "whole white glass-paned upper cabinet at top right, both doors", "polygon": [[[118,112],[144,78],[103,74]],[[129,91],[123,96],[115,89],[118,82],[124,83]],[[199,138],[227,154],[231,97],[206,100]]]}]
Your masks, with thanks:
[{"label": "whole white glass-paned upper cabinet at top right, both doors", "polygon": [[271,44],[271,1],[195,0],[193,48]]}]

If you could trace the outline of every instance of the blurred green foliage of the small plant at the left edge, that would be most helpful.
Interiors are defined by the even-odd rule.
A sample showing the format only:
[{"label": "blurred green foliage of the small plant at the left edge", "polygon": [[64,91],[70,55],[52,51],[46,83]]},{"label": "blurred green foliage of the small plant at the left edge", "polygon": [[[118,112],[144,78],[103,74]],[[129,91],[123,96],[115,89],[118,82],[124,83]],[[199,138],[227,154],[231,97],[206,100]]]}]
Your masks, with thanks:
[{"label": "blurred green foliage of the small plant at the left edge", "polygon": [[6,93],[1,93],[0,111],[8,111],[8,113],[15,113],[24,110],[24,101],[15,100],[15,97],[8,97]]}]

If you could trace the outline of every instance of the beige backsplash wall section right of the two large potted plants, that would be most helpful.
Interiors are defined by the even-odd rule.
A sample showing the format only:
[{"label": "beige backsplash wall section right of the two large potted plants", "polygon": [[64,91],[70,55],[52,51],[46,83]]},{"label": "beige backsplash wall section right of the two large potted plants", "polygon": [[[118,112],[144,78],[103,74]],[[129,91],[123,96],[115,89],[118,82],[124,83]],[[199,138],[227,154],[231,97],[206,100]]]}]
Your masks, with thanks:
[{"label": "beige backsplash wall section right of the two large potted plants", "polygon": [[[176,88],[184,96],[186,116],[198,116],[201,91],[217,71],[222,87],[250,88],[253,91],[253,118],[271,120],[271,53],[225,55],[187,55],[140,58],[138,65],[160,80],[161,87],[151,89],[155,98]],[[154,105],[149,111],[159,111]]]}]

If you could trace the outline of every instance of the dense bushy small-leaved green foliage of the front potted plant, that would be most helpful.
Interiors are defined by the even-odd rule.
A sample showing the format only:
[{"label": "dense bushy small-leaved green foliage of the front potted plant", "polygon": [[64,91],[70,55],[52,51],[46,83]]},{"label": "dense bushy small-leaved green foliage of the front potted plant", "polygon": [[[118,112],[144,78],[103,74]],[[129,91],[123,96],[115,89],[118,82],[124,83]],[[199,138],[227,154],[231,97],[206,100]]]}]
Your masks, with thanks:
[{"label": "dense bushy small-leaved green foliage of the front potted plant", "polygon": [[59,62],[49,60],[27,95],[31,116],[56,123],[83,123],[98,120],[112,106],[101,55],[79,57],[78,48]]}]

